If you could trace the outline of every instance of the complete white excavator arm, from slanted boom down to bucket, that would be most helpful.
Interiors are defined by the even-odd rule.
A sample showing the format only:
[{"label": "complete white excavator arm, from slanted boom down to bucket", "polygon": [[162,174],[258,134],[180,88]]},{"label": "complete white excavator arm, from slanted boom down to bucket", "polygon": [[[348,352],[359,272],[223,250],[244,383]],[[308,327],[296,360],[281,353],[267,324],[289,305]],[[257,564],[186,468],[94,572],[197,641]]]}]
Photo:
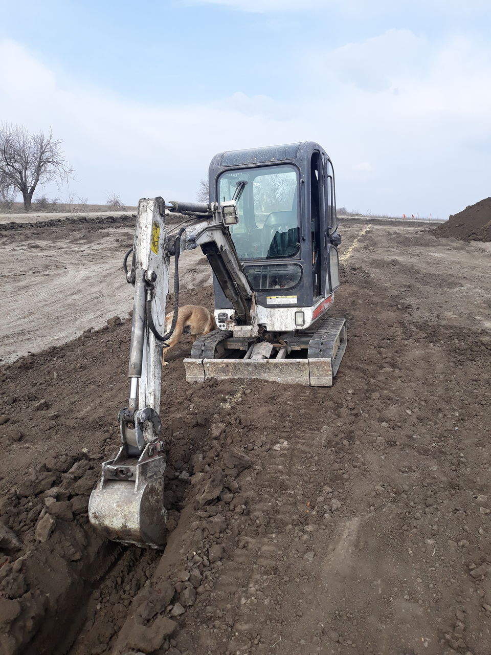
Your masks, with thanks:
[{"label": "complete white excavator arm, from slanted boom down to bucket", "polygon": [[[234,204],[228,203],[234,210]],[[232,212],[232,219],[236,214]],[[166,217],[189,223],[180,233],[181,250],[201,246],[223,291],[242,324],[257,333],[255,294],[237,257],[222,207],[217,203],[177,203],[162,198],[138,203],[133,259],[127,280],[134,284],[130,346],[130,398],[119,413],[121,447],[117,456],[103,462],[100,481],[89,502],[91,523],[110,539],[163,546],[166,539],[164,443],[159,440],[161,421],[160,379],[170,257],[176,241],[168,235]],[[181,252],[179,250],[179,253]]]}]

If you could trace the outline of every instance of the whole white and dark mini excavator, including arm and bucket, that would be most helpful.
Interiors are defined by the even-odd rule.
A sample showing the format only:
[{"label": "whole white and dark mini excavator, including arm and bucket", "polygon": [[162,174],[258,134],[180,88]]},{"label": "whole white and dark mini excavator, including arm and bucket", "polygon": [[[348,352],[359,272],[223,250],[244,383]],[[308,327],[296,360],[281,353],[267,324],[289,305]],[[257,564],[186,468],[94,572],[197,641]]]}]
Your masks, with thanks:
[{"label": "whole white and dark mini excavator, including arm and bucket", "polygon": [[[130,398],[119,413],[120,449],[103,462],[89,502],[92,525],[115,541],[152,548],[166,542],[162,347],[177,321],[182,252],[199,246],[208,259],[218,326],[192,345],[187,381],[331,386],[346,350],[346,321],[326,316],[339,286],[341,238],[333,165],[318,143],[215,155],[209,200],[138,204],[123,264],[134,286]],[[172,257],[175,306],[165,333]]]}]

